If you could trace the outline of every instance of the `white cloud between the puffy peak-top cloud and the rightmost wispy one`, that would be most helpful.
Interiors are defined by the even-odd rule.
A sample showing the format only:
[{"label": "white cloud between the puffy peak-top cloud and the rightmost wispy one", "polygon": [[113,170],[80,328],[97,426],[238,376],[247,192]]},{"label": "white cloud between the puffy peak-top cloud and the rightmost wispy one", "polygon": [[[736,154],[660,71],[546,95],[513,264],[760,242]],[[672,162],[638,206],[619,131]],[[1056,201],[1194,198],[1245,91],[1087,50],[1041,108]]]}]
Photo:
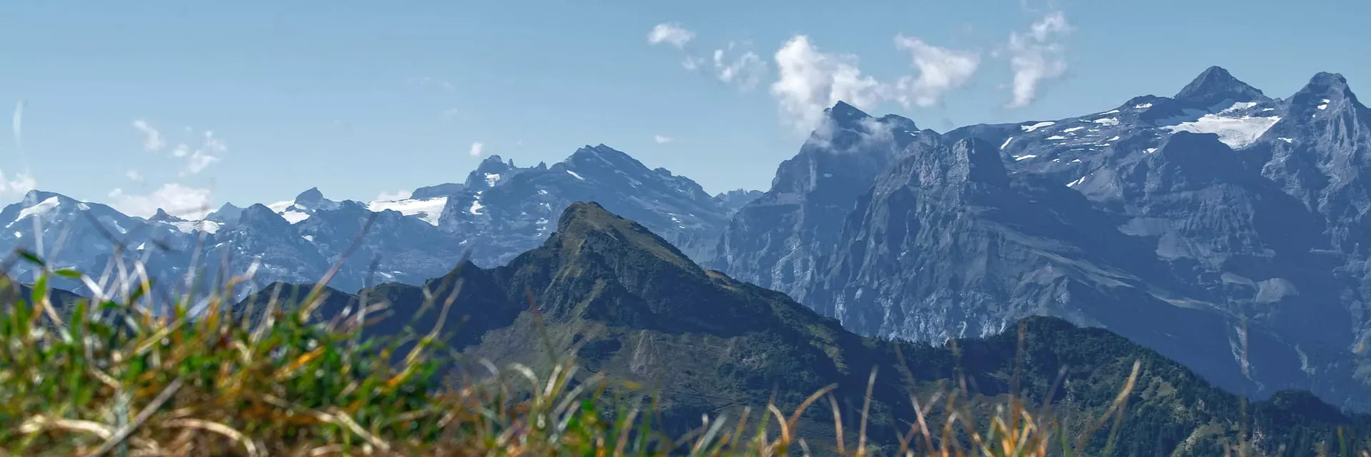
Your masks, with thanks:
[{"label": "white cloud between the puffy peak-top cloud and the rightmost wispy one", "polygon": [[967,84],[980,66],[976,52],[939,48],[916,37],[895,36],[895,48],[909,52],[919,75],[899,78],[895,100],[901,106],[934,106],[943,92]]}]

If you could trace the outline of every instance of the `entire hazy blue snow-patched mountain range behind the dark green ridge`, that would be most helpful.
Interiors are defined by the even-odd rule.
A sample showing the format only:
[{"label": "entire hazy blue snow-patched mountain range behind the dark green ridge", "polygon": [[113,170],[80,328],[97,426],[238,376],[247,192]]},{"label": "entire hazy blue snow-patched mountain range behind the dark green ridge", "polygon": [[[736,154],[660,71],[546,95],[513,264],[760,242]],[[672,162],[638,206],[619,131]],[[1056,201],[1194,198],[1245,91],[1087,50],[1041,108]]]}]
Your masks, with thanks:
[{"label": "entire hazy blue snow-patched mountain range behind the dark green ridge", "polygon": [[[942,343],[1054,316],[1115,331],[1230,391],[1309,390],[1371,410],[1361,350],[1371,335],[1368,154],[1371,111],[1341,75],[1319,73],[1272,99],[1211,67],[1169,97],[946,133],[838,103],[766,192],[710,196],[587,145],[551,166],[491,156],[463,183],[400,200],[335,202],[310,189],[291,202],[225,204],[200,221],[30,192],[0,210],[10,228],[0,247],[62,246],[44,257],[88,272],[147,257],[148,276],[173,283],[188,265],[214,279],[256,262],[256,288],[315,281],[352,248],[330,283],[352,292],[424,284],[463,255],[472,270],[507,269],[555,240],[572,202],[595,200],[672,255],[779,291],[858,335]],[[522,284],[573,280],[540,272]],[[590,312],[599,294],[651,302],[576,284],[591,295],[551,302]],[[636,307],[614,313],[625,309]]]}]

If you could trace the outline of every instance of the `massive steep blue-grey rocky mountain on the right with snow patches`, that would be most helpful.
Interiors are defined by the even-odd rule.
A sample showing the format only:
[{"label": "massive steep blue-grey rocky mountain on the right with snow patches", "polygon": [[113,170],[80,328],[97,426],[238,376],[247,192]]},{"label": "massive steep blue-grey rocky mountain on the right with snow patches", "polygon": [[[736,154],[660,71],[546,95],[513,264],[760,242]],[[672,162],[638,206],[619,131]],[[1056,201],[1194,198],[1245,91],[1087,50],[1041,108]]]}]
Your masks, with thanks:
[{"label": "massive steep blue-grey rocky mountain on the right with snow patches", "polygon": [[[806,143],[739,210],[720,266],[861,333],[1054,314],[1230,390],[1371,409],[1371,111],[1341,75],[1272,99],[1211,67],[1169,97],[919,137],[846,155],[868,167]],[[839,174],[860,189],[824,185]]]}]

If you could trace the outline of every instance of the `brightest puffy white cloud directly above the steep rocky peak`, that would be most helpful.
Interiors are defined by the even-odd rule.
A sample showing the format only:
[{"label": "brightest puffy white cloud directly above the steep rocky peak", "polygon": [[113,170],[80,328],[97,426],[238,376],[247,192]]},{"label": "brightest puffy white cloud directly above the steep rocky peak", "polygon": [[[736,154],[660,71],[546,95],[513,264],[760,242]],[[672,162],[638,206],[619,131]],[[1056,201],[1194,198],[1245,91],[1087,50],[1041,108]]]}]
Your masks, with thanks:
[{"label": "brightest puffy white cloud directly above the steep rocky peak", "polygon": [[824,108],[839,100],[865,110],[887,91],[876,78],[861,74],[857,56],[821,52],[802,34],[776,51],[776,70],[780,75],[771,93],[780,104],[781,121],[801,132],[818,125]]}]

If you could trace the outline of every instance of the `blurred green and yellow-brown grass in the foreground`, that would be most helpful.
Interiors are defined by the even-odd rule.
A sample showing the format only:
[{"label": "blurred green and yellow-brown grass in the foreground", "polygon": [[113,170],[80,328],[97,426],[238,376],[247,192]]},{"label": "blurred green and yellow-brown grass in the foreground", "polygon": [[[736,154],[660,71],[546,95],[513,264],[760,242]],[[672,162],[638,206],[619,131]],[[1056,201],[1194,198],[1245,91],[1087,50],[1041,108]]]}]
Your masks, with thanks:
[{"label": "blurred green and yellow-brown grass in the foreground", "polygon": [[[1075,436],[1046,408],[1009,398],[973,417],[954,392],[910,397],[920,420],[898,443],[868,442],[865,421],[845,430],[836,408],[834,443],[795,438],[808,408],[836,406],[828,390],[798,410],[755,405],[742,420],[705,417],[669,436],[654,428],[650,395],[625,397],[635,386],[579,373],[570,357],[543,373],[483,362],[488,376],[444,379],[441,328],[362,338],[365,317],[384,309],[313,320],[322,287],[299,307],[271,298],[233,314],[234,279],[189,318],[189,301],[154,303],[145,279],[126,281],[134,287],[119,301],[82,279],[96,298],[60,303],[49,277],[82,279],[48,272],[22,296],[0,279],[0,456],[1073,454],[1121,417],[1137,376],[1135,366],[1109,413]],[[451,298],[432,302],[446,313]],[[941,423],[925,420],[934,403],[950,412]]]}]

